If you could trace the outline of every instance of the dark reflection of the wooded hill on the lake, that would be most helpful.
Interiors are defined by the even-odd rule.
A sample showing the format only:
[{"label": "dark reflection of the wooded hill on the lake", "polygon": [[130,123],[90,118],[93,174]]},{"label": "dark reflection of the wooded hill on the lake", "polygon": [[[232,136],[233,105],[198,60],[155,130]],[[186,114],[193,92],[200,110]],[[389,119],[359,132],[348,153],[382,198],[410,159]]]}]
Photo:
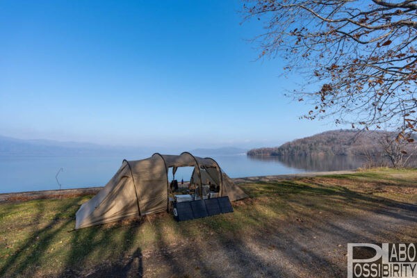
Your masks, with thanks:
[{"label": "dark reflection of the wooded hill on the lake", "polygon": [[248,158],[254,161],[282,163],[287,167],[313,172],[354,170],[366,162],[361,156],[248,156]]}]

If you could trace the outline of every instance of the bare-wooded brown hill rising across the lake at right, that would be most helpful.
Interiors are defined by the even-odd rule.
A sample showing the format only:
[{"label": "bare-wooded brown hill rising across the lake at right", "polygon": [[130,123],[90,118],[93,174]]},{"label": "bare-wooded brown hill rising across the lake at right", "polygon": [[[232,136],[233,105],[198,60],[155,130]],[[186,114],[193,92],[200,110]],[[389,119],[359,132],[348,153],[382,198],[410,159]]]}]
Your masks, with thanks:
[{"label": "bare-wooded brown hill rising across the lake at right", "polygon": [[318,133],[302,139],[286,142],[280,147],[251,149],[248,156],[309,156],[309,155],[364,155],[381,152],[379,143],[395,133],[385,131],[335,130]]}]

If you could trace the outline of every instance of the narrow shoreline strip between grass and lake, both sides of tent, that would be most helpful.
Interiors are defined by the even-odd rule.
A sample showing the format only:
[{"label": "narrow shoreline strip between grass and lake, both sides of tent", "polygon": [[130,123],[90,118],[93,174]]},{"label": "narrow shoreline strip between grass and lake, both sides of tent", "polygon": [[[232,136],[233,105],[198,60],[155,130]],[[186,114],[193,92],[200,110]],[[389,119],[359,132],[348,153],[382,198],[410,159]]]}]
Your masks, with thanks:
[{"label": "narrow shoreline strip between grass and lake, both sides of tent", "polygon": [[[251,183],[257,181],[275,181],[285,179],[297,179],[302,177],[316,177],[325,176],[327,174],[352,174],[357,170],[341,170],[329,172],[304,172],[298,174],[277,174],[269,176],[254,176],[254,177],[240,177],[231,178],[235,183]],[[60,197],[80,197],[85,195],[95,195],[101,190],[103,186],[88,187],[88,188],[70,188],[70,189],[54,189],[54,190],[37,190],[24,191],[15,193],[0,193],[0,202],[19,202],[29,201],[33,199],[59,199]]]}]

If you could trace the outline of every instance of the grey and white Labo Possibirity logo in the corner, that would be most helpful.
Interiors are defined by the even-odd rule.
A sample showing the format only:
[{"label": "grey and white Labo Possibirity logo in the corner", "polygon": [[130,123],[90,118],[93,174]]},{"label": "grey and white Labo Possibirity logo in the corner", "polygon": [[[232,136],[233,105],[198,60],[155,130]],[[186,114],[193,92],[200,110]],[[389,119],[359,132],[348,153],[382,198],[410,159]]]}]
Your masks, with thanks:
[{"label": "grey and white Labo Possibirity logo in the corner", "polygon": [[347,278],[417,278],[417,243],[347,243]]}]

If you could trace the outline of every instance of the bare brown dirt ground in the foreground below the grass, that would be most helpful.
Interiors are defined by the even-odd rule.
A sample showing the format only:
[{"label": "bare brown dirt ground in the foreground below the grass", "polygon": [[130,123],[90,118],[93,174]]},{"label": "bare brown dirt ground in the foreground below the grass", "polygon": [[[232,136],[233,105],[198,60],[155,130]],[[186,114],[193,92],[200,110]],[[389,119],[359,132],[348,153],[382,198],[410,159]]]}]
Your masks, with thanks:
[{"label": "bare brown dirt ground in the foreground below the grass", "polygon": [[[193,240],[136,254],[120,265],[135,277],[345,277],[347,243],[416,242],[416,207],[320,213],[238,238]],[[244,233],[244,231],[243,231]],[[120,268],[119,267],[119,268]],[[113,267],[87,277],[116,274]],[[130,275],[129,275],[130,274]]]}]

